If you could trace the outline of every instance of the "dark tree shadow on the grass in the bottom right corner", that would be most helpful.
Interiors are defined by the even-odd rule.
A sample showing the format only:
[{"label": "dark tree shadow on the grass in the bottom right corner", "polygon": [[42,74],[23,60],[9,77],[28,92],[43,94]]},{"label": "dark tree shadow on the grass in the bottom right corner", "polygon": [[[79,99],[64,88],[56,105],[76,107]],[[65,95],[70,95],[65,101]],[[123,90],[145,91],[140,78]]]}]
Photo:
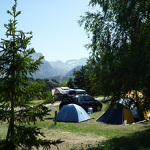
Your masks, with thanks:
[{"label": "dark tree shadow on the grass in the bottom right corner", "polygon": [[112,138],[87,150],[150,150],[150,129]]}]

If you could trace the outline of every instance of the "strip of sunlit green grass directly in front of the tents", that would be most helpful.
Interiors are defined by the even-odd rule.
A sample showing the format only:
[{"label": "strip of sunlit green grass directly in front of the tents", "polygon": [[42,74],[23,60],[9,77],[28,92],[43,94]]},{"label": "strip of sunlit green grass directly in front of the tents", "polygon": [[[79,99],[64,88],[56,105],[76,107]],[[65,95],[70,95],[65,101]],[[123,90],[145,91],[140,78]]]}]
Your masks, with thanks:
[{"label": "strip of sunlit green grass directly in front of the tents", "polygon": [[54,111],[58,111],[58,106],[55,106],[51,110],[51,115],[47,116],[44,121],[38,122],[37,125],[40,128],[54,129],[54,130],[64,130],[68,132],[85,132],[85,133],[94,133],[96,135],[104,136],[106,138],[112,137],[121,137],[130,133],[137,131],[142,131],[146,126],[149,126],[149,122],[140,123],[134,125],[108,125],[104,123],[95,122],[101,115],[102,111],[90,114],[91,118],[88,121],[80,123],[72,122],[57,122],[57,125],[54,126]]}]

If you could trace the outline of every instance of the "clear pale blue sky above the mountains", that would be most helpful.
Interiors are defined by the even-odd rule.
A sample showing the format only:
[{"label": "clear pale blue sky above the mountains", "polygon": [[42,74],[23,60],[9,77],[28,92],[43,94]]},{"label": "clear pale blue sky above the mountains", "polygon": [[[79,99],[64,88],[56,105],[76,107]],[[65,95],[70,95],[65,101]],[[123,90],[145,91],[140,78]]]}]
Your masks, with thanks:
[{"label": "clear pale blue sky above the mountains", "polygon": [[[18,0],[18,29],[32,31],[32,47],[48,61],[66,61],[88,57],[84,45],[89,42],[84,27],[77,21],[89,10],[90,0]],[[0,0],[0,38],[4,38],[4,23],[13,0]]]}]

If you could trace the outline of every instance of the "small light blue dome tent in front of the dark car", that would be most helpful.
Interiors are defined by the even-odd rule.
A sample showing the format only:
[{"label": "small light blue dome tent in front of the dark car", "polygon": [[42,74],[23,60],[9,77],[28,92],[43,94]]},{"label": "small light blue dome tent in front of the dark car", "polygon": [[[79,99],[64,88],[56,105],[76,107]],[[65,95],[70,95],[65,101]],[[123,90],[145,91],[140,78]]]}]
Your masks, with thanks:
[{"label": "small light blue dome tent in front of the dark car", "polygon": [[76,104],[65,105],[57,114],[57,121],[82,122],[89,119],[87,112]]}]

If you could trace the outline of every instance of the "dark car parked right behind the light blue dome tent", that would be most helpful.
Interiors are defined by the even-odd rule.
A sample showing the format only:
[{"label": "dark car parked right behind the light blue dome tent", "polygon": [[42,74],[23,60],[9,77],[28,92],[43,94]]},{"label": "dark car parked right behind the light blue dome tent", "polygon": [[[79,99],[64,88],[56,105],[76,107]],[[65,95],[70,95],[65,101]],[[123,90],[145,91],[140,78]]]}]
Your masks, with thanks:
[{"label": "dark car parked right behind the light blue dome tent", "polygon": [[67,104],[77,104],[84,108],[85,111],[88,111],[88,108],[90,107],[93,108],[94,112],[100,111],[102,109],[102,103],[95,100],[92,96],[88,94],[62,95],[62,102],[59,105],[59,109]]}]

